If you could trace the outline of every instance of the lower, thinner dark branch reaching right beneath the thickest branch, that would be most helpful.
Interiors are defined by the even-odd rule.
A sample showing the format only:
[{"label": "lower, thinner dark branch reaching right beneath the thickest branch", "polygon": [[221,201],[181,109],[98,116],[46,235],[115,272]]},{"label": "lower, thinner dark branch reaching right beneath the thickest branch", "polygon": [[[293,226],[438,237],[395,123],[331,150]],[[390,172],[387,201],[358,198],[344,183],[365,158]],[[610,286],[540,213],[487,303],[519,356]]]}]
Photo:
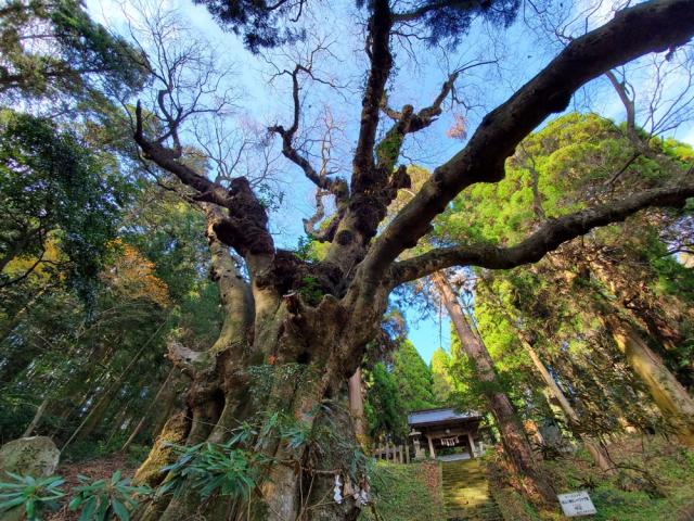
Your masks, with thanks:
[{"label": "lower, thinner dark branch reaching right beneath the thickest branch", "polygon": [[472,244],[441,247],[417,257],[396,263],[390,268],[393,285],[425,277],[451,266],[479,266],[489,269],[510,269],[536,263],[562,243],[588,233],[593,228],[625,220],[650,206],[680,207],[694,196],[694,183],[657,188],[545,221],[523,242],[509,247],[493,244]]}]

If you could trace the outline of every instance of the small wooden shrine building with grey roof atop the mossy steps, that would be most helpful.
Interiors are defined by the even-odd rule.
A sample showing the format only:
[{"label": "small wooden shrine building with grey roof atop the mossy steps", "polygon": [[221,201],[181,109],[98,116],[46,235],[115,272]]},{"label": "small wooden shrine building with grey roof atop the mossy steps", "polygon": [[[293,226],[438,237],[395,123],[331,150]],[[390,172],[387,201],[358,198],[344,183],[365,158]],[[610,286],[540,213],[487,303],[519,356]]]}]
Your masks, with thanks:
[{"label": "small wooden shrine building with grey roof atop the mossy steps", "polygon": [[[408,425],[415,459],[428,456],[432,459],[455,460],[480,456],[484,452],[479,435],[481,419],[478,412],[455,412],[451,408],[410,412]],[[454,450],[457,447],[459,449]]]}]

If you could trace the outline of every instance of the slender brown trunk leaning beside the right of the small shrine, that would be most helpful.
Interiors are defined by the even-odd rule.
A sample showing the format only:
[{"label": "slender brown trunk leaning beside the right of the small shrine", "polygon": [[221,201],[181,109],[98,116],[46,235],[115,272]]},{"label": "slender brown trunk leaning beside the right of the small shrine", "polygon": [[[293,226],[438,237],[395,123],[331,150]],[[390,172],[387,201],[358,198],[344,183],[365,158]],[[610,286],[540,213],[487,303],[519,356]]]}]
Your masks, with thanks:
[{"label": "slender brown trunk leaning beside the right of the small shrine", "polygon": [[490,384],[485,397],[489,410],[497,421],[502,443],[511,462],[519,473],[532,480],[537,492],[544,500],[555,501],[554,493],[542,475],[513,404],[509,396],[500,390],[501,386],[489,352],[470,326],[448,279],[441,272],[434,274],[432,279],[453,322],[463,351],[475,365],[477,377]]}]

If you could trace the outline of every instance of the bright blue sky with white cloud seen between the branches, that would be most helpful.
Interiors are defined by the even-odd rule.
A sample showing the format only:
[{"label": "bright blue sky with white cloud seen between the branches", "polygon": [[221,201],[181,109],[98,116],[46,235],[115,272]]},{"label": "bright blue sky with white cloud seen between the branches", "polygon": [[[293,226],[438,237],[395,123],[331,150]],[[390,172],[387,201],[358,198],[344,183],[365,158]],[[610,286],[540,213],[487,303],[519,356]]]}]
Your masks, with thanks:
[{"label": "bright blue sky with white cloud seen between the branches", "polygon": [[[591,1],[593,0],[577,0],[574,3],[586,7]],[[260,129],[271,124],[291,123],[292,106],[287,78],[272,76],[274,65],[280,69],[288,66],[291,56],[281,51],[261,58],[253,56],[243,49],[235,36],[220,29],[205,8],[194,5],[190,0],[165,0],[163,4],[166,9],[177,10],[191,26],[193,34],[205,38],[210,48],[216,47],[220,58],[227,63],[224,66],[232,72],[230,85],[237,89],[240,99],[243,100],[236,109],[236,119],[232,118],[232,123],[252,120]],[[325,8],[324,3],[317,4]],[[603,4],[608,5],[609,2]],[[133,4],[128,1],[87,0],[87,5],[97,20],[116,31],[125,30],[128,16],[137,18]],[[330,107],[331,117],[339,129],[335,139],[333,165],[343,175],[348,176],[349,152],[359,123],[360,86],[363,82],[367,62],[359,25],[361,21],[355,15],[354,2],[331,2],[331,14],[335,12],[337,15],[331,18],[321,11],[309,13],[309,20],[312,22],[311,35],[332,42],[326,65],[320,73],[323,78],[339,84],[340,89],[337,91],[324,85],[307,84],[303,91],[303,109],[307,116],[301,124],[305,128],[310,127],[322,117],[324,110]],[[607,20],[611,15],[608,10],[602,10],[597,14],[602,20]],[[490,55],[498,60],[494,65],[480,66],[464,73],[458,81],[459,97],[472,105],[470,110],[461,106],[455,109],[458,114],[465,117],[468,134],[486,112],[511,96],[549,62],[555,52],[551,43],[538,38],[537,34],[523,23],[523,16],[519,16],[518,23],[509,30],[497,31],[484,24],[475,25],[457,52],[425,49],[416,42],[414,46],[415,51],[422,51],[416,60],[410,59],[410,49],[407,46],[399,46],[397,41],[394,46],[396,72],[389,91],[389,102],[397,109],[404,103],[412,103],[415,107],[428,105],[448,72],[457,66],[475,60],[488,60]],[[300,53],[300,46],[288,53],[292,52]],[[642,87],[644,91],[653,84],[653,73],[647,63],[634,67],[632,77],[638,80],[637,87]],[[676,77],[673,86],[677,85]],[[593,81],[579,92],[570,107],[588,109],[606,117],[622,118],[624,109],[604,79]],[[423,136],[409,139],[402,161],[434,168],[452,156],[464,145],[464,142],[446,136],[452,118],[452,113],[448,112]],[[676,136],[694,143],[694,126],[690,122],[689,125],[679,128]],[[281,171],[277,183],[285,193],[285,198],[281,209],[271,216],[272,231],[280,246],[293,247],[303,234],[300,218],[309,217],[313,213],[313,189],[300,171],[286,160],[280,158],[277,167]],[[414,309],[406,309],[410,339],[426,361],[429,361],[432,353],[439,345],[445,348],[450,345],[448,318],[445,314],[434,315],[434,318],[421,319]]]}]

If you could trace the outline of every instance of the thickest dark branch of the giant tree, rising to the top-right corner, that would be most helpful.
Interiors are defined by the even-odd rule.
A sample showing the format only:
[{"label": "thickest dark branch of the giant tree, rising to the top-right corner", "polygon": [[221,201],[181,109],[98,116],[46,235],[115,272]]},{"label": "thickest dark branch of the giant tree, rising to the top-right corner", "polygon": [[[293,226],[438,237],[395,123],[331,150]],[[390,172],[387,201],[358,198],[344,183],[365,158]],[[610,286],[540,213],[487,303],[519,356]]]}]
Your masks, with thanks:
[{"label": "thickest dark branch of the giant tree, rising to the top-right corner", "polygon": [[654,0],[618,12],[602,27],[571,41],[509,101],[488,114],[467,147],[434,170],[390,223],[361,266],[377,283],[397,256],[414,246],[446,205],[475,182],[503,178],[504,162],[547,116],[562,112],[573,93],[611,68],[647,52],[685,43],[694,34],[694,0]]}]

